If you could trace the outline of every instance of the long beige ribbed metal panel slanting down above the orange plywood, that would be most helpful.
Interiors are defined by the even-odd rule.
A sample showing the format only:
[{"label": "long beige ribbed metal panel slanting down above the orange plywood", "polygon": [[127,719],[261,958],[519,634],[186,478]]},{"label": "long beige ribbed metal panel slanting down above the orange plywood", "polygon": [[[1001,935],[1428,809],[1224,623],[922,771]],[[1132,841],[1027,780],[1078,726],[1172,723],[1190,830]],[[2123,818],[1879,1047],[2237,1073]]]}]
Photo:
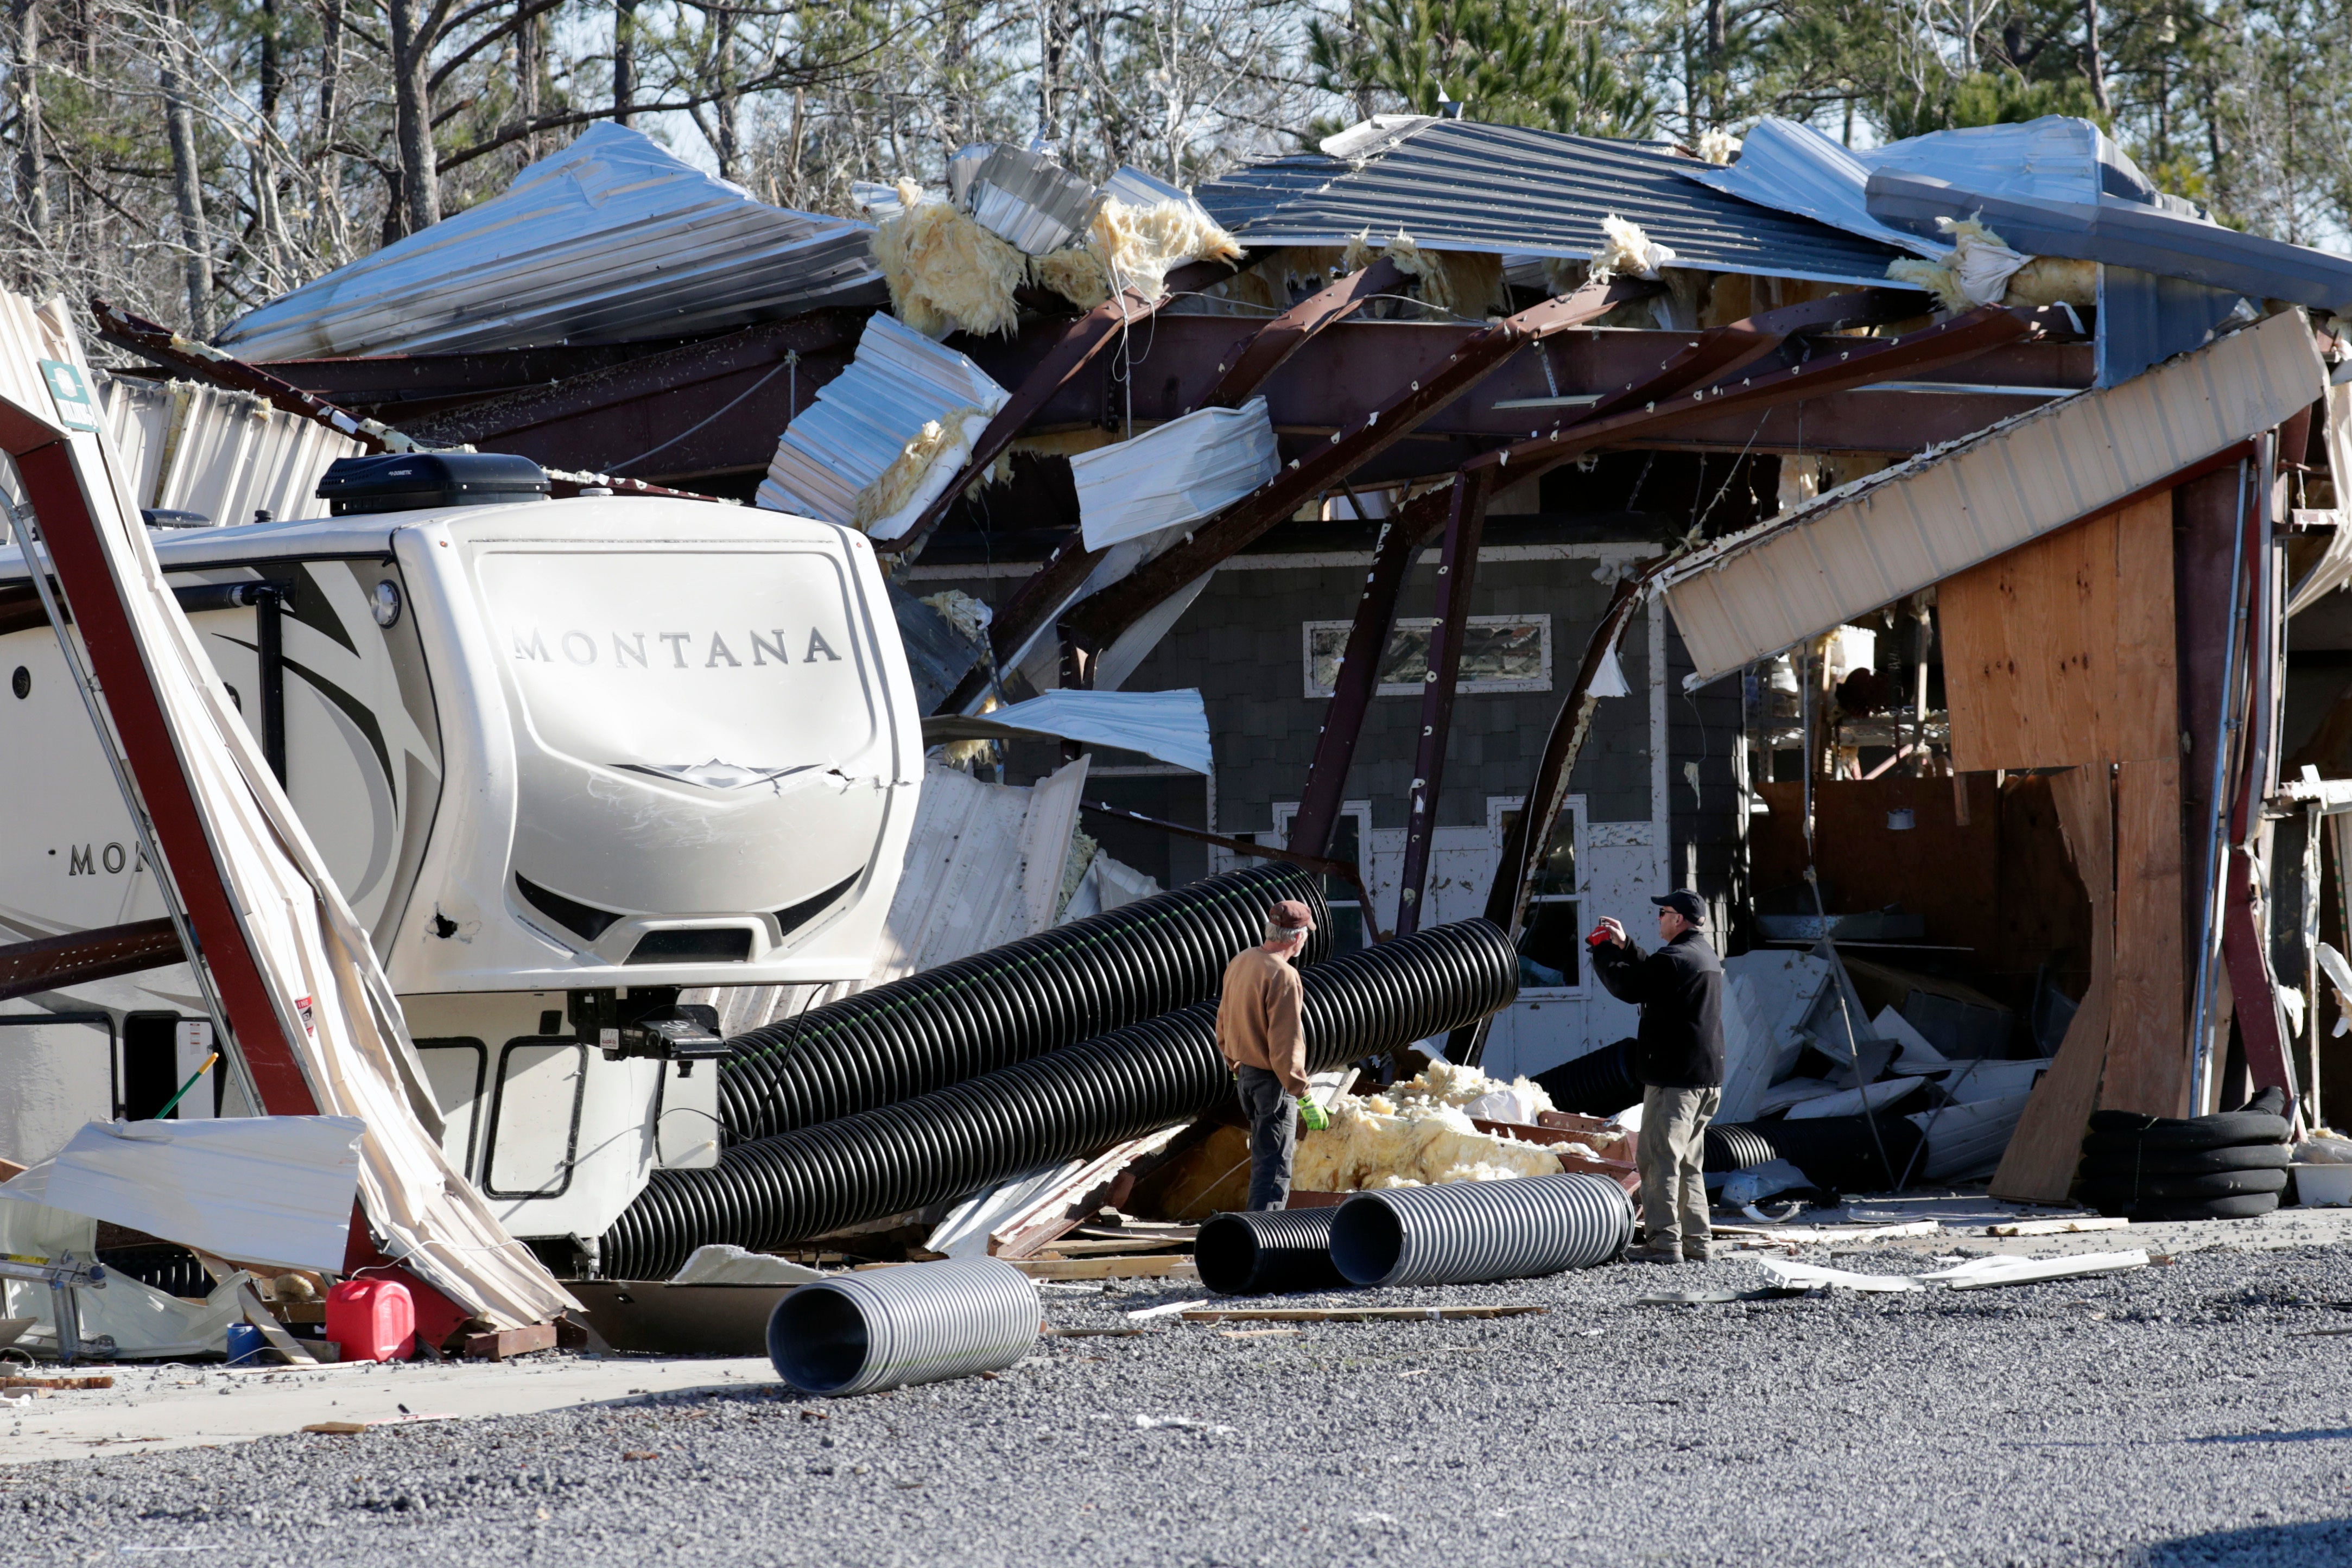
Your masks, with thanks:
[{"label": "long beige ribbed metal panel slanting down above the orange plywood", "polygon": [[2296,313],[1717,541],[1661,581],[1696,682],[1919,592],[2270,430],[2326,393]]}]

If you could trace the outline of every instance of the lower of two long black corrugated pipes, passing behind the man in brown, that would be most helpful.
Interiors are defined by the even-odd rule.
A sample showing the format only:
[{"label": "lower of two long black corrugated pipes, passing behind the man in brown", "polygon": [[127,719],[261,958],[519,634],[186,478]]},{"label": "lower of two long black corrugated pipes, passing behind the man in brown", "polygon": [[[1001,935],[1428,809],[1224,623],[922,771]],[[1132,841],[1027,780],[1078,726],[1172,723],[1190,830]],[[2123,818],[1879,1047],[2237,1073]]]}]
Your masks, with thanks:
[{"label": "lower of two long black corrugated pipes, passing behind the man in brown", "polygon": [[[1510,938],[1484,919],[1317,964],[1305,983],[1308,1070],[1444,1034],[1519,990]],[[710,1171],[654,1171],[602,1241],[607,1279],[668,1279],[708,1241],[790,1246],[1023,1171],[1192,1121],[1232,1095],[1216,1004],[1112,1030],[948,1088],[779,1138]]]}]

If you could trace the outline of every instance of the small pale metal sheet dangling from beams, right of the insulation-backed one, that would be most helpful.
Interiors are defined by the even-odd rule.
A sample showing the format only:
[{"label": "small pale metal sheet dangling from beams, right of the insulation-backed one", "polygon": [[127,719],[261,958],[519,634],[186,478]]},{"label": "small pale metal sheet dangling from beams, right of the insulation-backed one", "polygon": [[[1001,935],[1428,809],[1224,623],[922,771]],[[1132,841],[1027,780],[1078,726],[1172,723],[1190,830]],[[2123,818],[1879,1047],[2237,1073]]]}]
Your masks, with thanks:
[{"label": "small pale metal sheet dangling from beams, right of the insulation-backed one", "polygon": [[1265,400],[1197,409],[1070,458],[1089,550],[1207,517],[1282,473]]}]

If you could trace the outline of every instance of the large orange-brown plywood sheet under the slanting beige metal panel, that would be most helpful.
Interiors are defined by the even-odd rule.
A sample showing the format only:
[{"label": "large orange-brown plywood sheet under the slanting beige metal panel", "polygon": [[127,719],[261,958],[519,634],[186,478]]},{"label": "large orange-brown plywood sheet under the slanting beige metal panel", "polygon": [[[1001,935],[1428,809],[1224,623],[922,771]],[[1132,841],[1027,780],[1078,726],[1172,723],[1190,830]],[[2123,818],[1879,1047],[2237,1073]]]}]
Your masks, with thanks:
[{"label": "large orange-brown plywood sheet under the slanting beige metal panel", "polygon": [[1945,578],[1936,616],[1955,769],[2178,757],[2171,494]]}]

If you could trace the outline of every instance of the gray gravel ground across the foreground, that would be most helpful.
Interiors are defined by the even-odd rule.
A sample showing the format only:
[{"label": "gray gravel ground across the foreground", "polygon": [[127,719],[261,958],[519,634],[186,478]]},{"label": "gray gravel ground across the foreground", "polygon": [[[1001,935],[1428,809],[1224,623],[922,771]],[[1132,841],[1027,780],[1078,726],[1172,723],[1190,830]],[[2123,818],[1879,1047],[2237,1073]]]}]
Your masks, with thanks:
[{"label": "gray gravel ground across the foreground", "polygon": [[[2352,1561],[2352,1248],[1632,1300],[1762,1284],[1740,1260],[1621,1265],[1345,1298],[1541,1316],[1261,1338],[1160,1319],[849,1401],[734,1387],[26,1465],[0,1472],[0,1519],[12,1563]],[[1157,1300],[1047,1291],[1061,1328]]]}]

